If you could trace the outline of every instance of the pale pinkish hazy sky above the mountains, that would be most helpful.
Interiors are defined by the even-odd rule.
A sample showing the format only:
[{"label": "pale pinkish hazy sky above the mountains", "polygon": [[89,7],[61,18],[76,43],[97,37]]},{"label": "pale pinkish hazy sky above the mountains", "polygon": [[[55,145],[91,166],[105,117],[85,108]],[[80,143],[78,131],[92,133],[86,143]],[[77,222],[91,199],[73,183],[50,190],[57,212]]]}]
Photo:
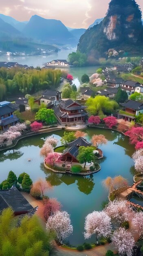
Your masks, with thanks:
[{"label": "pale pinkish hazy sky above the mountains", "polygon": [[[0,13],[24,21],[37,14],[64,25],[87,28],[105,16],[110,0],[0,0]],[[143,0],[136,0],[143,11]]]}]

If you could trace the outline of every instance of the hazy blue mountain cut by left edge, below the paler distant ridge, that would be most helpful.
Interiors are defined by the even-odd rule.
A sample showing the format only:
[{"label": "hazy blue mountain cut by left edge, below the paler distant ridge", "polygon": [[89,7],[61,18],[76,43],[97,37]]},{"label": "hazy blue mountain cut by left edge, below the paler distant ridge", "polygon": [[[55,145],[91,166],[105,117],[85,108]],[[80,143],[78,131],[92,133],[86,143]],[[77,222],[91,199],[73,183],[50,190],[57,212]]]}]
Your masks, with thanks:
[{"label": "hazy blue mountain cut by left edge, below the paler distant ridge", "polygon": [[15,36],[21,37],[20,31],[0,18],[0,40],[8,40]]}]

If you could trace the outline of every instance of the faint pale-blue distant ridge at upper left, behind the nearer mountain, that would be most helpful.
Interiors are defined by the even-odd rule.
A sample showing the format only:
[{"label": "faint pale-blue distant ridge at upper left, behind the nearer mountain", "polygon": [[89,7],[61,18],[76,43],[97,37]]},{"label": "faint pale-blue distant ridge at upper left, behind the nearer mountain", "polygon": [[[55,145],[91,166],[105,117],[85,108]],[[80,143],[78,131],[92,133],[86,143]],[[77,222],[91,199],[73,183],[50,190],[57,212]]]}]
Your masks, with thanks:
[{"label": "faint pale-blue distant ridge at upper left, behind the nearer mountain", "polygon": [[28,21],[20,22],[18,20],[15,20],[11,16],[7,16],[7,15],[1,14],[1,13],[0,13],[0,18],[2,20],[4,20],[5,22],[9,23],[11,26],[15,27],[15,29],[17,29],[19,31],[22,31],[24,29],[26,23],[28,23]]}]

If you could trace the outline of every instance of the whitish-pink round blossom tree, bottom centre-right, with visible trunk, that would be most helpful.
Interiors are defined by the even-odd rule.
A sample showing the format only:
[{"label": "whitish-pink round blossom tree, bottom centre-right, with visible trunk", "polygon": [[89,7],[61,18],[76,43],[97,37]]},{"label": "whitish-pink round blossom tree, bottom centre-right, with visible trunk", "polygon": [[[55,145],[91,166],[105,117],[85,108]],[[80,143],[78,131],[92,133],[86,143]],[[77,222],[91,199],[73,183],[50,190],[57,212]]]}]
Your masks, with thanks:
[{"label": "whitish-pink round blossom tree, bottom centre-right, with visible trunk", "polygon": [[104,211],[93,211],[85,218],[84,238],[88,239],[96,235],[97,244],[100,236],[108,236],[111,233],[111,218]]}]

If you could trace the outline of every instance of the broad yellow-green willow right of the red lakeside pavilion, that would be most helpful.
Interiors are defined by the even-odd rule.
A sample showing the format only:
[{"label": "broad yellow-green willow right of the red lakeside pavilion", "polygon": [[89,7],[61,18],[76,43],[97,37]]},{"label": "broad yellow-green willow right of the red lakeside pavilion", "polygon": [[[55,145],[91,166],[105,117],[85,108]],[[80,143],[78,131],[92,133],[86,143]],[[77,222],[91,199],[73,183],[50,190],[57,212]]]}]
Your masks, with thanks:
[{"label": "broad yellow-green willow right of the red lakeside pavilion", "polygon": [[110,100],[105,96],[96,96],[95,98],[89,98],[86,101],[87,110],[90,115],[103,115],[103,113],[112,113],[119,105],[116,101]]}]

